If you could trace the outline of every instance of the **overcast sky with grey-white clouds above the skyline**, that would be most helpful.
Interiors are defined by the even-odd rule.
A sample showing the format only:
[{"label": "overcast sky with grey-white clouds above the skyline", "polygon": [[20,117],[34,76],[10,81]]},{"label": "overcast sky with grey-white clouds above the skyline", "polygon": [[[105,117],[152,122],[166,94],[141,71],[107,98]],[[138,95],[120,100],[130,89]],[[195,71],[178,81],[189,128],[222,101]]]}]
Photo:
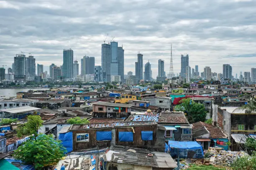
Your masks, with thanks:
[{"label": "overcast sky with grey-white clouds above the skyline", "polygon": [[101,65],[108,34],[106,42],[114,37],[123,45],[125,74],[135,74],[138,52],[154,78],[159,59],[169,73],[172,44],[174,73],[181,54],[189,54],[200,72],[209,66],[222,73],[230,64],[239,77],[256,67],[255,9],[256,0],[0,0],[0,65],[11,67],[23,51],[49,70],[62,65],[68,48],[79,64],[87,55]]}]

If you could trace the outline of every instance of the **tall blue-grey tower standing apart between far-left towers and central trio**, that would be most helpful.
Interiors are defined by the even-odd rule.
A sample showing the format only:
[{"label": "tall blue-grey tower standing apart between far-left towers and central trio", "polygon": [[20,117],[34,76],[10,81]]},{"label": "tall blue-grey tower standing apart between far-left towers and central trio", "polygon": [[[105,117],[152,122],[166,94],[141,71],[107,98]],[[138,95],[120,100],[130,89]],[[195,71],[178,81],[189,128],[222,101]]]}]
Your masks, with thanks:
[{"label": "tall blue-grey tower standing apart between far-left towers and central trio", "polygon": [[70,48],[68,50],[63,50],[63,76],[65,78],[74,77],[74,67],[73,67],[73,50]]}]

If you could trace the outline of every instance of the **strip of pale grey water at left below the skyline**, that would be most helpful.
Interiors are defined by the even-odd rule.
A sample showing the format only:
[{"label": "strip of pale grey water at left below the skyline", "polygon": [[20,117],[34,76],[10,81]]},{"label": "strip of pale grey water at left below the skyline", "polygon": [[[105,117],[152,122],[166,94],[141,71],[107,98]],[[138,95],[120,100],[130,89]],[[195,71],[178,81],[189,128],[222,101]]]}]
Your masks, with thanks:
[{"label": "strip of pale grey water at left below the skyline", "polygon": [[49,88],[8,88],[8,89],[0,88],[0,99],[16,97],[17,92],[28,92],[28,90],[49,90]]}]

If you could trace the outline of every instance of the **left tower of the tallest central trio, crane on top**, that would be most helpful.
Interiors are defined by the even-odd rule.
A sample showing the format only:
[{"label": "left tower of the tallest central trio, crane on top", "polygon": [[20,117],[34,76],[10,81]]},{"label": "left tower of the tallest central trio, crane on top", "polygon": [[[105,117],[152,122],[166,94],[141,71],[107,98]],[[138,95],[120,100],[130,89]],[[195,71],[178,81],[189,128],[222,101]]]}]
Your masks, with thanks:
[{"label": "left tower of the tallest central trio, crane on top", "polygon": [[110,44],[101,45],[101,68],[102,68],[102,79],[104,82],[110,82]]}]

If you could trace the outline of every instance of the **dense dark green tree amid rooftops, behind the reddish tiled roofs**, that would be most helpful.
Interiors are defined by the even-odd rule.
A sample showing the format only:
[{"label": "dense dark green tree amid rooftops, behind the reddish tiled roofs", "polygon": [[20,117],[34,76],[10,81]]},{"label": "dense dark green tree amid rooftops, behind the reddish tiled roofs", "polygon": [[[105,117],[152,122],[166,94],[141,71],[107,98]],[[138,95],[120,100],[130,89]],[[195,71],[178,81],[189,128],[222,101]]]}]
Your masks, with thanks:
[{"label": "dense dark green tree amid rooftops, behind the reddish tiled roofs", "polygon": [[191,98],[182,99],[181,104],[175,107],[176,111],[183,111],[187,114],[187,120],[190,123],[205,121],[205,106],[194,102]]}]

